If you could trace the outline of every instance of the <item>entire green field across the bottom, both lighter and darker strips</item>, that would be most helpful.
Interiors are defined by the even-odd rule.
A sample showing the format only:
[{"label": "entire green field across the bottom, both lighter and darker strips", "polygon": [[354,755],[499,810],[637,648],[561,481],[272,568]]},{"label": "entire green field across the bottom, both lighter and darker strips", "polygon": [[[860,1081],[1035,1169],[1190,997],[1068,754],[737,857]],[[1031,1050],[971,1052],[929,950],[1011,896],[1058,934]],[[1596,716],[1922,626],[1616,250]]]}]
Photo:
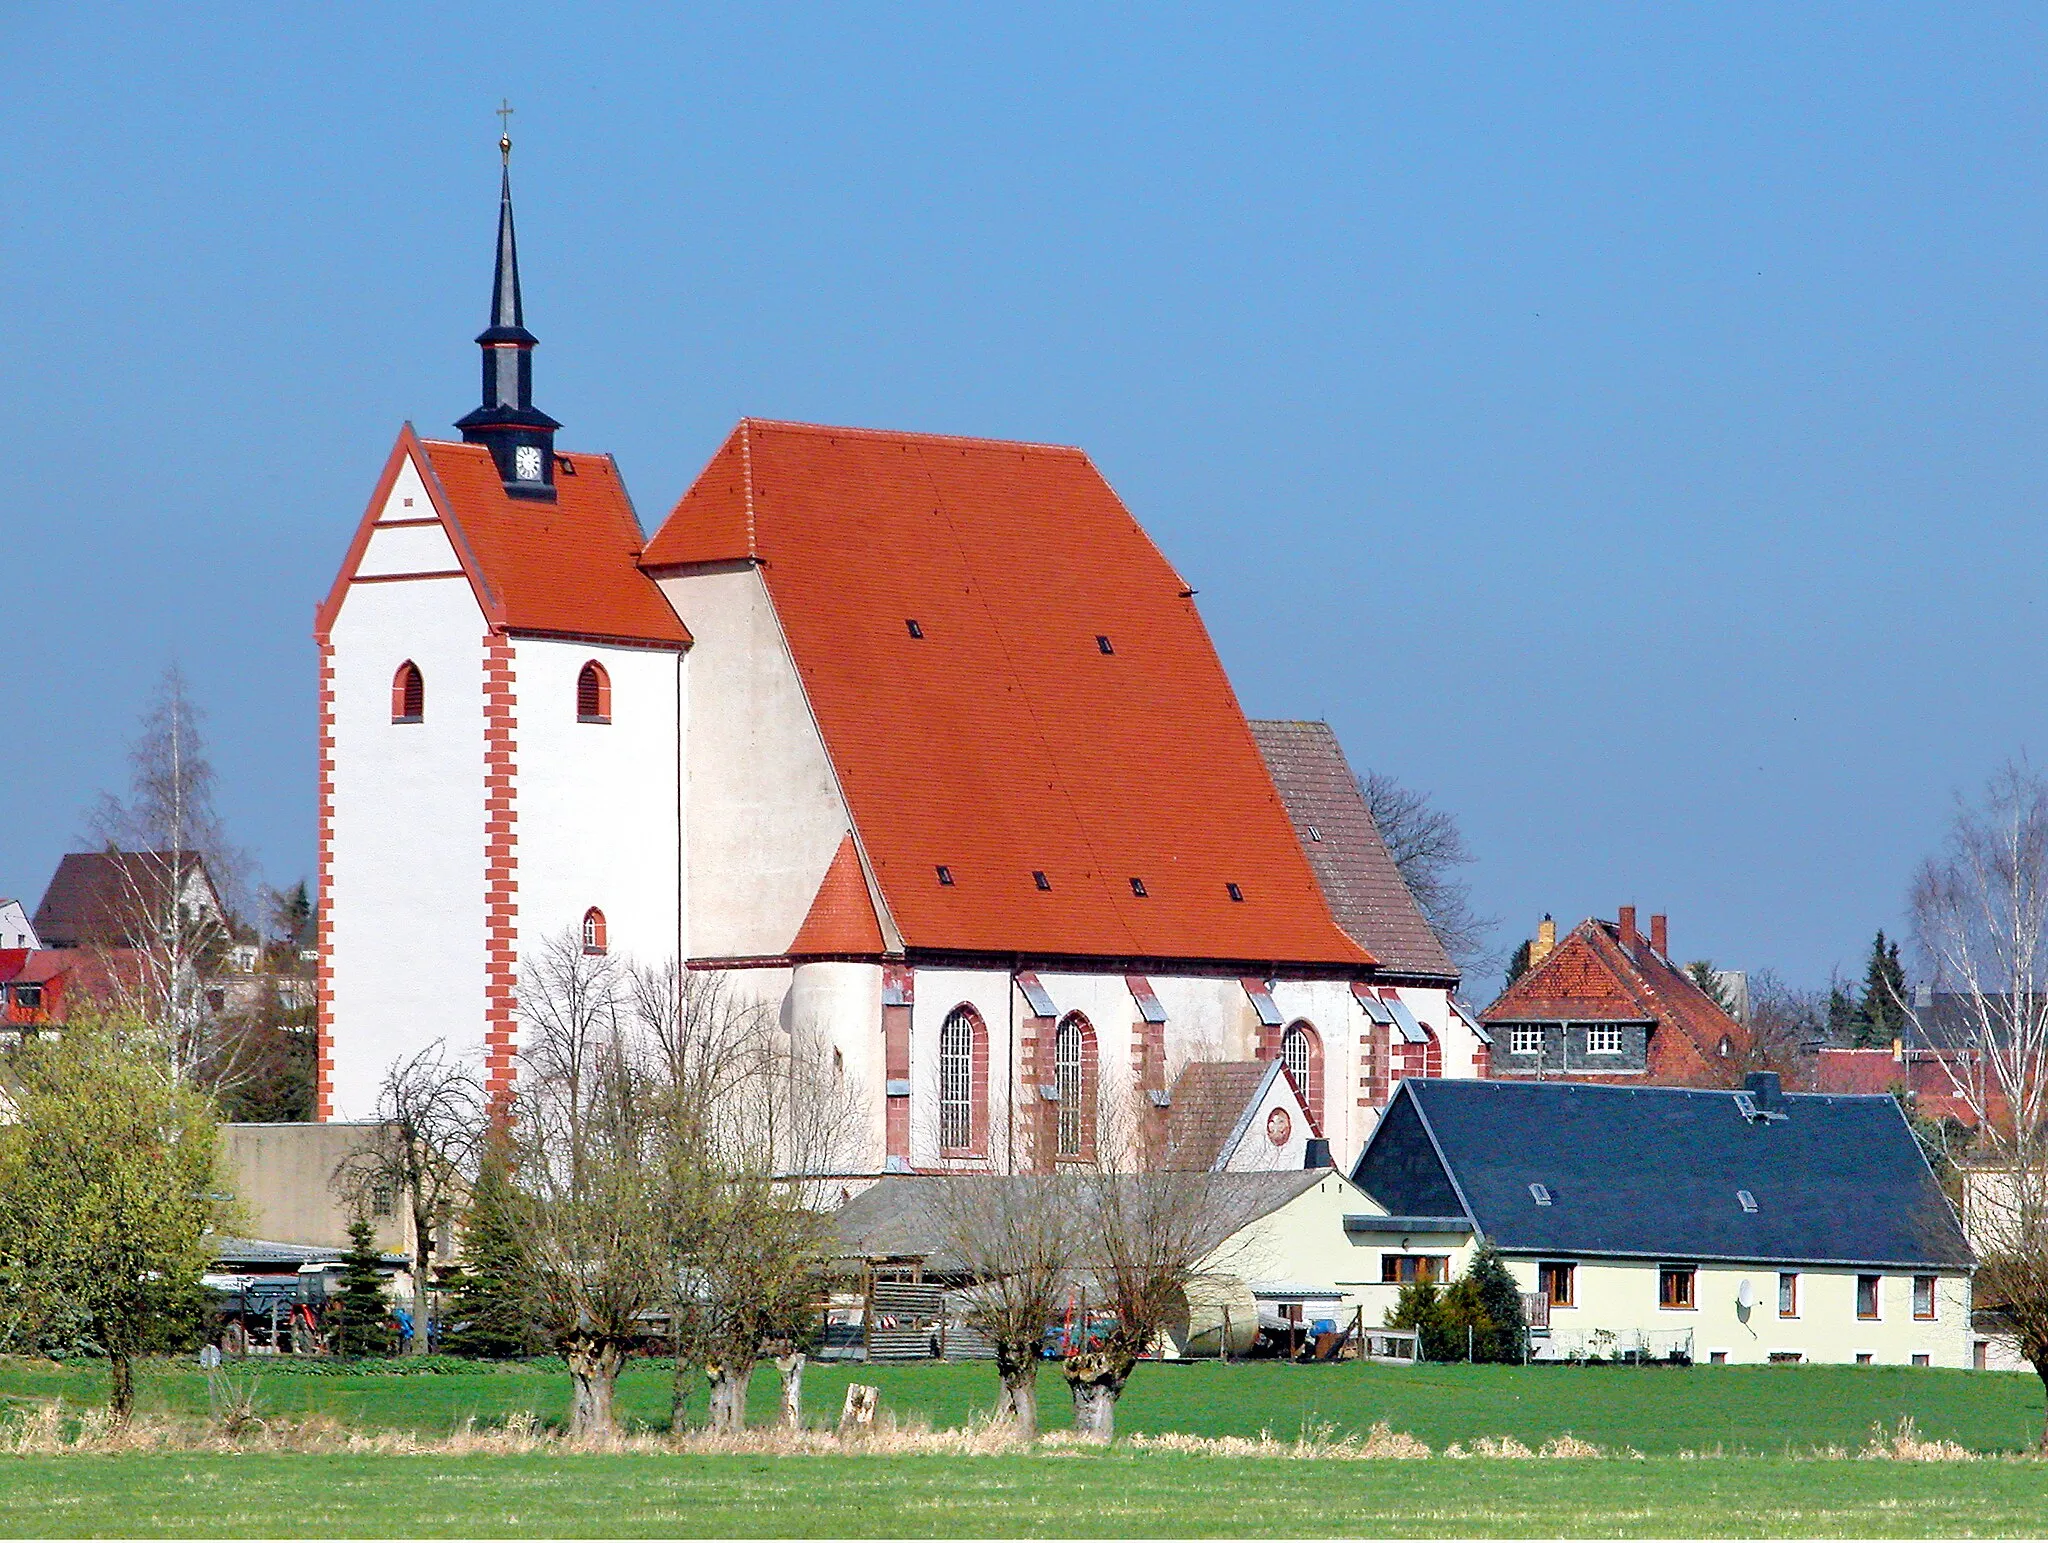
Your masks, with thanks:
[{"label": "entire green field across the bottom, both lighter and darker strips", "polygon": [[[561,1414],[557,1371],[395,1377],[254,1373],[272,1418],[326,1414],[352,1428],[436,1436],[467,1418]],[[963,1424],[993,1371],[862,1369],[899,1418]],[[829,1420],[850,1369],[807,1377]],[[0,1363],[23,1408],[100,1398],[96,1367]],[[772,1414],[774,1375],[756,1416]],[[1065,1424],[1057,1371],[1047,1424]],[[659,1426],[666,1369],[627,1375],[629,1418]],[[694,1398],[702,1408],[702,1393]],[[1022,1457],[711,1455],[61,1455],[0,1459],[0,1535],[2044,1535],[2048,1469],[2034,1461],[1815,1459],[1911,1416],[1923,1434],[1997,1455],[2040,1430],[2032,1377],[1913,1369],[1624,1367],[1143,1367],[1124,1432],[1292,1438],[1307,1426],[1386,1420],[1442,1451],[1479,1436],[1538,1445],[1573,1432],[1645,1461],[1282,1461],[1116,1449]],[[203,1416],[205,1377],[150,1367],[143,1412]],[[1722,1453],[1683,1457],[1681,1453]]]}]

